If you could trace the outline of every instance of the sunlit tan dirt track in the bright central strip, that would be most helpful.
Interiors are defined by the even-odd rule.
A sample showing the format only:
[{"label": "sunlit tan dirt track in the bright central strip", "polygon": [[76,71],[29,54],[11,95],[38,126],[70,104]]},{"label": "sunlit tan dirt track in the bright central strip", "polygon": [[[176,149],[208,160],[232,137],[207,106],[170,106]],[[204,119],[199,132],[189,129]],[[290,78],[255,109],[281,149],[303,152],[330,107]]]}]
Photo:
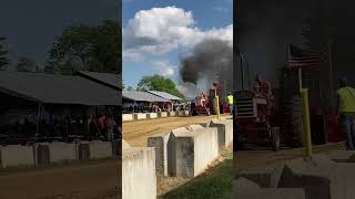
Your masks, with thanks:
[{"label": "sunlit tan dirt track in the bright central strip", "polygon": [[122,137],[133,147],[145,147],[148,137],[174,128],[207,122],[216,116],[166,117],[150,121],[123,123]]}]

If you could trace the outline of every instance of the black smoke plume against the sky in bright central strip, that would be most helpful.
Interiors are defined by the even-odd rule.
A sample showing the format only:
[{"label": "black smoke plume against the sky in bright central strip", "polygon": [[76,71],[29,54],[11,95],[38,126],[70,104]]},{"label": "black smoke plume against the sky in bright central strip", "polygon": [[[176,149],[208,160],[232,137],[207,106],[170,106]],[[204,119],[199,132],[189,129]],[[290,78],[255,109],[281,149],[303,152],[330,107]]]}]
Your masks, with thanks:
[{"label": "black smoke plume against the sky in bright central strip", "polygon": [[205,39],[197,43],[192,54],[181,60],[183,83],[190,83],[206,92],[213,82],[225,82],[225,88],[233,88],[233,48],[227,41]]}]

